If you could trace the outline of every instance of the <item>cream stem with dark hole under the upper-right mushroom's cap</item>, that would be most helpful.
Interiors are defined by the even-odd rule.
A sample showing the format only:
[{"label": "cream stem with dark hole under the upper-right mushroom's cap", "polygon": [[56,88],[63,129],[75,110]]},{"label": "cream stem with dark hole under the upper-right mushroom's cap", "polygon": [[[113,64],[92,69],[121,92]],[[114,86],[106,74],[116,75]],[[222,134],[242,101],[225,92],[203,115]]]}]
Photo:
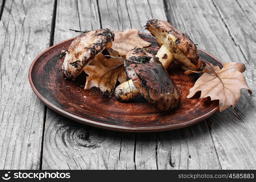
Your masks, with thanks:
[{"label": "cream stem with dark hole under the upper-right mushroom's cap", "polygon": [[160,47],[155,56],[159,59],[166,70],[174,60],[174,55],[167,49],[164,44]]}]

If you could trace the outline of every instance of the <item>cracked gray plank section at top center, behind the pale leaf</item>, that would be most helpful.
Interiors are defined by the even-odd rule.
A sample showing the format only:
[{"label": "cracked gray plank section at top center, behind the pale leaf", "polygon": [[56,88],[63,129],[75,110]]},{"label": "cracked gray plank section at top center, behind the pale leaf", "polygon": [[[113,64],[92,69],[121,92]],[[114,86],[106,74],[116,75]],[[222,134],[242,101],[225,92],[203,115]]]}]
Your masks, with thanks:
[{"label": "cracked gray plank section at top center, behind the pale leaf", "polygon": [[113,30],[141,29],[149,18],[166,20],[162,1],[107,0],[99,3],[99,11],[102,28]]}]

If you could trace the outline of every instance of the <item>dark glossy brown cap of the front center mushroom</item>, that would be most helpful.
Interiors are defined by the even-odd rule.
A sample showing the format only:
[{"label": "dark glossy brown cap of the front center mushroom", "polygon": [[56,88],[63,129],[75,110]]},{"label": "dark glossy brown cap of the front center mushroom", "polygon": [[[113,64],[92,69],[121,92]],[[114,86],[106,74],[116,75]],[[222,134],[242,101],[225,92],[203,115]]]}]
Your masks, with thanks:
[{"label": "dark glossy brown cap of the front center mushroom", "polygon": [[153,54],[138,48],[129,51],[126,59],[124,66],[127,76],[148,102],[161,110],[177,107],[176,86]]}]

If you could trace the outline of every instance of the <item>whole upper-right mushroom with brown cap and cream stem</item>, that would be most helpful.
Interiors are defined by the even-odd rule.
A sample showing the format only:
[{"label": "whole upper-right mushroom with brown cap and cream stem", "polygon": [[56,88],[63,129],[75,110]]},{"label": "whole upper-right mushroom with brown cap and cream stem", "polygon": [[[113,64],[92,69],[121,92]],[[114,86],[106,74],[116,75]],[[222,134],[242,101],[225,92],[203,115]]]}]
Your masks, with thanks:
[{"label": "whole upper-right mushroom with brown cap and cream stem", "polygon": [[161,46],[157,57],[167,69],[170,63],[180,64],[184,70],[199,70],[201,59],[196,45],[186,34],[167,21],[149,20],[146,29],[151,32]]}]

